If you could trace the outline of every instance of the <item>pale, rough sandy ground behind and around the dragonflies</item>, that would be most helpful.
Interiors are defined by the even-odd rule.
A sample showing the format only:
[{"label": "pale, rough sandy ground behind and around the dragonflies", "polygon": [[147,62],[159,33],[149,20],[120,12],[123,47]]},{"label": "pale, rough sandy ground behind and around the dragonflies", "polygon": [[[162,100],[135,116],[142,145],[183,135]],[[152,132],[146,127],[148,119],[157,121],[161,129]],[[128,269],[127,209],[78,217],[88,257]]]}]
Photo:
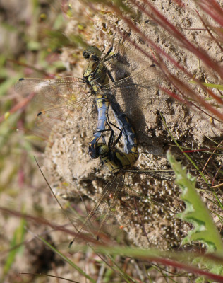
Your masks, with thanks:
[{"label": "pale, rough sandy ground behind and around the dragonflies", "polygon": [[[179,9],[179,6],[174,3],[163,3],[163,1],[156,1],[156,8],[162,11],[164,15],[170,18],[171,23],[174,23],[177,27],[182,29],[182,33],[191,40],[195,45],[205,46],[208,45],[208,53],[210,56],[221,61],[221,54],[218,47],[214,42],[210,42],[207,39],[207,35],[203,30],[190,30],[193,28],[203,28],[198,16],[196,16],[193,4],[190,2],[190,8],[188,8],[189,2],[186,1],[186,9]],[[83,9],[83,10],[82,10]],[[112,36],[116,34],[116,28],[121,31],[131,32],[130,28],[119,20],[109,10],[104,10],[101,6],[98,9],[104,11],[106,16],[101,14],[91,14],[92,22],[91,28],[94,33],[86,31],[88,44],[97,44],[98,46],[105,46],[107,49],[111,46]],[[80,17],[81,11],[84,10],[83,6],[78,7],[78,17]],[[137,11],[135,9],[135,11]],[[77,12],[77,13],[78,13]],[[89,11],[90,13],[90,11]],[[74,13],[76,15],[76,13]],[[83,15],[82,15],[83,16]],[[84,18],[84,16],[83,16]],[[191,72],[196,78],[205,77],[212,80],[210,74],[207,73],[203,64],[199,64],[198,59],[193,54],[183,50],[180,45],[171,39],[171,37],[162,28],[158,28],[155,23],[150,22],[144,25],[147,20],[145,16],[138,16],[136,23],[145,31],[148,37],[154,42],[157,42],[159,47],[162,47],[167,54],[171,54],[177,62],[183,65],[188,71]],[[71,35],[75,32],[76,26],[80,18],[76,20],[72,19],[67,26],[66,34]],[[189,30],[187,30],[187,28]],[[103,30],[103,31],[102,31]],[[88,34],[90,33],[90,34]],[[133,33],[132,33],[133,34]],[[133,36],[133,35],[131,35]],[[119,38],[119,36],[116,36]],[[117,45],[118,40],[114,40],[114,46]],[[139,42],[139,41],[138,41]],[[148,50],[147,45],[141,42],[140,45]],[[69,69],[72,70],[73,76],[82,76],[81,64],[85,66],[85,62],[79,64],[79,68],[73,67],[73,62],[70,61],[71,54],[75,50],[64,50],[62,59],[68,64]],[[77,52],[80,52],[78,50]],[[134,69],[135,62],[140,61],[138,51],[133,48],[128,50],[129,57],[128,63],[130,68]],[[217,57],[216,57],[217,54]],[[141,57],[142,58],[142,57]],[[138,62],[137,61],[137,62]],[[143,61],[143,60],[142,60]],[[143,61],[143,67],[147,64],[150,66],[152,62]],[[138,66],[138,65],[137,65]],[[167,63],[172,73],[186,81],[186,76],[179,72],[176,68],[172,69],[171,64]],[[137,71],[140,67],[137,67]],[[169,89],[172,87],[162,79],[159,73],[152,74],[151,81],[160,77],[160,84]],[[133,79],[134,80],[134,79]],[[201,96],[205,96],[200,89],[196,86],[198,93]],[[131,124],[135,129],[138,138],[140,157],[136,163],[137,168],[140,169],[156,169],[156,168],[168,168],[165,154],[169,146],[174,144],[171,141],[171,137],[167,134],[167,129],[164,127],[164,123],[159,115],[162,113],[164,119],[167,122],[167,127],[173,134],[174,138],[181,144],[190,149],[198,149],[203,147],[210,147],[211,142],[209,138],[215,139],[222,134],[222,125],[217,121],[210,122],[208,117],[205,117],[200,112],[193,110],[192,108],[186,108],[185,105],[173,100],[167,96],[167,94],[158,91],[157,88],[148,90],[135,91],[135,93],[128,93],[123,99],[119,99],[119,93],[116,94],[119,103],[122,105],[124,112],[130,118]],[[112,119],[112,112],[110,112],[110,120]],[[88,156],[88,141],[92,137],[92,132],[95,130],[97,121],[97,110],[94,105],[88,103],[85,107],[76,111],[72,120],[66,122],[66,131],[64,125],[57,134],[53,136],[54,144],[50,145],[46,151],[45,166],[49,168],[49,172],[52,174],[52,180],[54,180],[54,187],[58,187],[57,192],[61,195],[73,195],[77,190],[84,196],[92,198],[96,201],[100,192],[107,183],[109,172],[102,166],[99,160],[90,160]],[[119,145],[123,149],[123,144]],[[174,151],[174,149],[172,149]],[[176,151],[176,156],[179,160],[183,161],[183,156]],[[199,164],[200,168],[203,167],[207,156],[205,154],[193,154],[193,158]],[[135,226],[138,223],[138,216],[135,215],[135,207],[133,205],[133,198],[130,200],[131,210],[129,207],[119,207],[119,217],[121,219],[121,225],[126,227],[128,236],[131,241],[138,246],[155,246],[162,249],[169,247],[169,239],[173,240],[171,245],[177,246],[182,236],[185,236],[189,226],[186,223],[182,223],[174,217],[176,212],[181,211],[182,204],[176,198],[179,196],[179,189],[172,183],[157,182],[153,178],[145,177],[135,174],[131,176],[131,180],[127,180],[126,184],[134,186],[138,192],[143,194],[138,204],[140,214],[144,219],[145,231],[149,240],[143,234],[143,229],[140,225]],[[68,183],[65,189],[61,186],[61,180]],[[123,188],[124,190],[124,188]],[[131,193],[130,193],[131,194]],[[205,197],[212,199],[212,194],[206,192]],[[150,200],[149,202],[147,202]],[[213,199],[212,199],[213,200]],[[151,203],[155,201],[155,203]],[[168,207],[169,211],[163,209]],[[211,202],[209,205],[212,207]],[[119,218],[118,217],[118,218]],[[168,239],[168,240],[167,240]]]}]

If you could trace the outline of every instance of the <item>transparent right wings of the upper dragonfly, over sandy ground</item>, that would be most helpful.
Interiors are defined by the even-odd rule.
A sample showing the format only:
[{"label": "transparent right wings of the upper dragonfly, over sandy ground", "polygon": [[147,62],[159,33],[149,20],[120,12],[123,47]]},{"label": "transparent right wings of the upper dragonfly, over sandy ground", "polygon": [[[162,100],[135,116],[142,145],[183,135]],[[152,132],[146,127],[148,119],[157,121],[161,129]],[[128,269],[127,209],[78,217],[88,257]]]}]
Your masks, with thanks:
[{"label": "transparent right wings of the upper dragonfly, over sandy ground", "polygon": [[[147,33],[146,25],[143,33]],[[124,43],[118,39],[114,43],[113,56],[104,62],[114,82],[104,85],[102,89],[115,96],[118,103],[128,105],[130,112],[134,108],[138,109],[138,105],[147,105],[152,93],[156,93],[159,84],[164,80],[158,67],[136,45],[150,53],[149,47],[140,36],[134,34],[124,40]]]}]

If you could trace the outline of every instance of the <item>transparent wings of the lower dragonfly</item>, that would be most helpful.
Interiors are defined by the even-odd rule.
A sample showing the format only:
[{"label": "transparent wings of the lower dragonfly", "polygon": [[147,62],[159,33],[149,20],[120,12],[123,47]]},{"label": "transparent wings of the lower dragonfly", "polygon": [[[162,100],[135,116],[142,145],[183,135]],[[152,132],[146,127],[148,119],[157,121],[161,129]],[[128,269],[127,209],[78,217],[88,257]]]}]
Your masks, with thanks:
[{"label": "transparent wings of the lower dragonfly", "polygon": [[[91,210],[88,217],[80,225],[78,233],[91,233],[95,239],[103,238],[104,233],[108,233],[111,236],[112,231],[117,230],[114,224],[116,224],[116,216],[118,215],[117,204],[121,201],[121,197],[127,195],[125,189],[125,174],[132,173],[133,175],[145,174],[150,178],[156,178],[158,180],[174,180],[174,172],[171,170],[121,170],[119,173],[114,174],[105,185],[102,194],[97,200],[95,206]],[[138,197],[140,197],[138,195]],[[130,209],[131,204],[128,204]],[[129,212],[130,213],[130,212]],[[78,238],[78,236],[76,236]],[[75,241],[75,239],[74,239]]]}]

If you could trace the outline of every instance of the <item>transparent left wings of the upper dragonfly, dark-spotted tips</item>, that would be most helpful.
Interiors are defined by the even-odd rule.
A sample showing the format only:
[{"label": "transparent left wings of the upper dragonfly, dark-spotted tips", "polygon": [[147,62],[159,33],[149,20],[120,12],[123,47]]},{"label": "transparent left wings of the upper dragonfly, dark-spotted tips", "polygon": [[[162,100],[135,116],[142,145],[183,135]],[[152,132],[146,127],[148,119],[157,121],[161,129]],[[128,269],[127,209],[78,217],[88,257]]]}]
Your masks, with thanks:
[{"label": "transparent left wings of the upper dragonfly, dark-spotted tips", "polygon": [[20,79],[15,91],[24,98],[32,98],[41,105],[35,117],[37,136],[46,139],[55,125],[74,114],[91,99],[88,88],[82,79],[64,77],[63,79]]}]

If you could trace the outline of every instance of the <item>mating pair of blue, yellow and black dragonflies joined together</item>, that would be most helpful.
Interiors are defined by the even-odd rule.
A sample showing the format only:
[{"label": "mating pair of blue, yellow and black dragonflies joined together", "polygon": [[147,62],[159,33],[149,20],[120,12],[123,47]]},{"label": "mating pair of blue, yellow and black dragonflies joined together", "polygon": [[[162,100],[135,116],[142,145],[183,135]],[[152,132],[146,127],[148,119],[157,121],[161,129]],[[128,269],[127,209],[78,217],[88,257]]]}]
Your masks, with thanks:
[{"label": "mating pair of blue, yellow and black dragonflies joined together", "polygon": [[[100,216],[100,229],[102,228],[121,197],[125,170],[130,169],[138,159],[135,132],[116,98],[120,94],[128,97],[138,88],[149,90],[159,83],[159,78],[155,74],[155,65],[143,64],[144,59],[140,59],[134,65],[128,63],[128,56],[133,54],[133,48],[129,42],[126,45],[121,45],[119,42],[117,52],[111,54],[113,51],[111,47],[102,57],[102,52],[97,47],[91,46],[83,51],[83,57],[88,62],[83,78],[19,79],[15,86],[16,91],[23,97],[32,96],[33,100],[48,105],[48,109],[42,110],[36,117],[37,129],[44,133],[49,133],[55,122],[64,120],[74,108],[88,103],[91,98],[95,100],[98,110],[97,129],[88,144],[88,152],[91,158],[100,158],[109,171],[119,178],[116,179],[117,183],[113,181],[104,187],[100,199],[79,231],[88,228],[88,222],[92,216]],[[109,69],[116,74],[115,79]],[[115,141],[114,132],[108,120],[109,106],[121,131]],[[111,138],[106,143],[103,133],[107,131],[107,125],[111,131]],[[123,151],[116,149],[121,135],[124,140]],[[109,201],[109,207],[104,212],[104,203],[107,201]]]}]

